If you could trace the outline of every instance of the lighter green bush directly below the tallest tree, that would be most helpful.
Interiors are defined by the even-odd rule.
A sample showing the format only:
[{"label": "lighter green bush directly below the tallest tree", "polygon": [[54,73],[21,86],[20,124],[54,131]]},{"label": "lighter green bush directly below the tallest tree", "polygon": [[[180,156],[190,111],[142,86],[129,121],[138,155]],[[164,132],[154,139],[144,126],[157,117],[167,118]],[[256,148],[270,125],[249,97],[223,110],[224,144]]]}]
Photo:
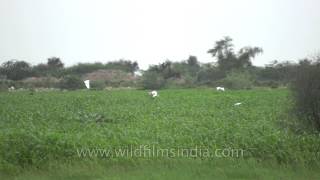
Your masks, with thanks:
[{"label": "lighter green bush directly below the tallest tree", "polygon": [[254,82],[249,72],[232,71],[226,78],[219,81],[219,84],[229,89],[251,89]]}]

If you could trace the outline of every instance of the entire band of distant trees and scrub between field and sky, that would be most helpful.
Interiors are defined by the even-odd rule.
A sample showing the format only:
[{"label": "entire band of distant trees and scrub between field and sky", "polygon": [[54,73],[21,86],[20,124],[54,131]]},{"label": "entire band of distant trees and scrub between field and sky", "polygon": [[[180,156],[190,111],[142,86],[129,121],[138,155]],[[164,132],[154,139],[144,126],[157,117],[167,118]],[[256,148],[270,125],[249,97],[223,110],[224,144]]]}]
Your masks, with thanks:
[{"label": "entire band of distant trees and scrub between field and sky", "polygon": [[[135,87],[143,89],[190,88],[197,86],[225,86],[229,89],[250,89],[252,87],[288,86],[294,79],[300,64],[289,61],[272,61],[265,67],[252,65],[252,59],[263,52],[260,47],[243,47],[235,51],[232,39],[224,37],[216,41],[207,51],[212,55],[211,63],[201,63],[196,56],[186,60],[166,60],[151,65],[146,71],[139,70],[135,61],[118,60],[107,63],[79,63],[65,67],[58,57],[48,58],[47,63],[30,65],[21,60],[10,60],[0,67],[0,89],[16,88],[66,88],[63,79],[76,76],[79,79],[92,78],[99,89],[105,87]],[[141,72],[142,76],[136,76]],[[48,81],[49,80],[49,81]],[[78,81],[80,82],[80,81]],[[78,88],[83,88],[79,84]]]}]

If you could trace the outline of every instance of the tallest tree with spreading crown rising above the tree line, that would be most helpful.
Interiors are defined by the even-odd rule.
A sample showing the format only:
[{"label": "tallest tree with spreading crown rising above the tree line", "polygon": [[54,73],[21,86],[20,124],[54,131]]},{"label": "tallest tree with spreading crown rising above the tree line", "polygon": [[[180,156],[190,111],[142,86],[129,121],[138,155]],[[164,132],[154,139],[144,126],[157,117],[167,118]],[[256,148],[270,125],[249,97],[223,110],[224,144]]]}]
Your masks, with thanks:
[{"label": "tallest tree with spreading crown rising above the tree line", "polygon": [[228,36],[216,41],[215,46],[208,50],[208,53],[217,59],[219,69],[224,72],[251,66],[251,59],[262,52],[259,47],[247,46],[235,53],[232,39]]}]

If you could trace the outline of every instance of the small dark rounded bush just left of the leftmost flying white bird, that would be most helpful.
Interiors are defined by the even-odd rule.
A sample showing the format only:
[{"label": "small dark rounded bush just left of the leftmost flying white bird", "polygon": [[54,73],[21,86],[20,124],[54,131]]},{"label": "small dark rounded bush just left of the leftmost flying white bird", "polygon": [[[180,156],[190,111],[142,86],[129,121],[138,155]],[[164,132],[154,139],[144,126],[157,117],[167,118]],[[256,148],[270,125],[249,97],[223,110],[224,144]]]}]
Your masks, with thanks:
[{"label": "small dark rounded bush just left of the leftmost flying white bird", "polygon": [[59,83],[59,87],[61,89],[76,90],[83,89],[85,86],[83,81],[79,77],[68,75],[62,78]]}]

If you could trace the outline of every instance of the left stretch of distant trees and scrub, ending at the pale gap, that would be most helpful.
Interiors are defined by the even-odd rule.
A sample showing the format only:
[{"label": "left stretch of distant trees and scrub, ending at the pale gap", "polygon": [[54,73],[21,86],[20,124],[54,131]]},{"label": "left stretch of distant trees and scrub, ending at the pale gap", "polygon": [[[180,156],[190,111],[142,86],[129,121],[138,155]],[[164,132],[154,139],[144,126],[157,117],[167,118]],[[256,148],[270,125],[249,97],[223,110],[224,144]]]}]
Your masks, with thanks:
[{"label": "left stretch of distant trees and scrub, ending at the pale gap", "polygon": [[93,78],[91,79],[93,84],[100,84],[100,87],[135,86],[134,73],[137,70],[139,70],[138,63],[128,60],[105,64],[79,63],[71,67],[64,67],[63,62],[57,57],[49,58],[46,64],[35,66],[25,61],[11,60],[0,67],[0,89],[6,90],[14,86],[75,90],[84,88],[82,80],[86,78]]}]

